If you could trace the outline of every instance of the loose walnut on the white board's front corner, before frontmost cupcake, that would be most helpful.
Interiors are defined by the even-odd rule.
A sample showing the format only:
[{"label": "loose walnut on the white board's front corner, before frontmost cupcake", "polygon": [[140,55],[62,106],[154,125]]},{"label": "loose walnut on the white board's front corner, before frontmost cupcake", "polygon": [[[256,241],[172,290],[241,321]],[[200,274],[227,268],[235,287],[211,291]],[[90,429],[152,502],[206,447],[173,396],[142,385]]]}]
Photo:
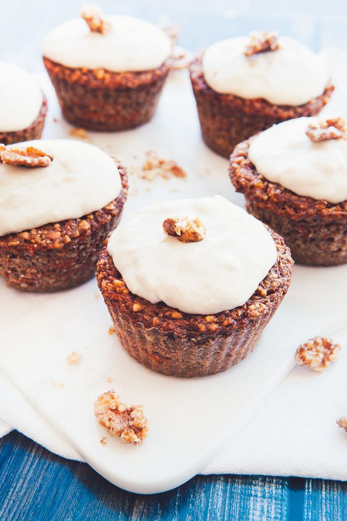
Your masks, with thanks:
[{"label": "loose walnut on the white board's front corner, before frontmost cupcake", "polygon": [[119,400],[114,389],[101,394],[94,403],[95,417],[110,436],[118,436],[123,443],[142,445],[148,434],[148,421],[142,405],[128,407]]}]

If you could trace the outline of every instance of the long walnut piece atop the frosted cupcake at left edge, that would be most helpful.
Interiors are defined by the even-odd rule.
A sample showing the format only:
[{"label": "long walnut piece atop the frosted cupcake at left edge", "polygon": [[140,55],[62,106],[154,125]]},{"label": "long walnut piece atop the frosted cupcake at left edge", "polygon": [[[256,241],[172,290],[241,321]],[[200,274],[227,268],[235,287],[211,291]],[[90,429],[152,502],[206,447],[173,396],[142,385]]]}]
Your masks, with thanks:
[{"label": "long walnut piece atop the frosted cupcake at left edge", "polygon": [[34,146],[6,146],[0,149],[0,161],[7,165],[31,168],[46,167],[53,161],[53,156]]}]

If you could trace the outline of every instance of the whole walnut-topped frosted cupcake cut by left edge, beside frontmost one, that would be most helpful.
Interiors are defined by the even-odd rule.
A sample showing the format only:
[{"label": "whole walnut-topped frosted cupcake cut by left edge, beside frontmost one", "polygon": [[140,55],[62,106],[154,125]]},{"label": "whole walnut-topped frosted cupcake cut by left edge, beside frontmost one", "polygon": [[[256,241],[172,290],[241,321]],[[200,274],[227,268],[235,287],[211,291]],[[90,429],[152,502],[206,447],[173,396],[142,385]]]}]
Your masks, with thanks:
[{"label": "whole walnut-topped frosted cupcake cut by left edge, beside frontmost one", "polygon": [[51,292],[90,279],[120,220],[126,169],[73,140],[0,145],[0,274],[23,291]]}]

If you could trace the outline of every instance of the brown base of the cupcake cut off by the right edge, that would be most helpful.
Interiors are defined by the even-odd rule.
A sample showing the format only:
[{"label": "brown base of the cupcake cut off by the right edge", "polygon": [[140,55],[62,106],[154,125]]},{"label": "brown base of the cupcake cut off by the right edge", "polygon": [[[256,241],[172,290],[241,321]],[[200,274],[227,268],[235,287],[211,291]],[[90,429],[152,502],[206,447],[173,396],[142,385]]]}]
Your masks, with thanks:
[{"label": "brown base of the cupcake cut off by the right edge", "polygon": [[236,146],[229,167],[236,191],[245,195],[248,212],[284,238],[296,263],[347,263],[347,201],[318,201],[271,183],[248,159],[250,141]]}]

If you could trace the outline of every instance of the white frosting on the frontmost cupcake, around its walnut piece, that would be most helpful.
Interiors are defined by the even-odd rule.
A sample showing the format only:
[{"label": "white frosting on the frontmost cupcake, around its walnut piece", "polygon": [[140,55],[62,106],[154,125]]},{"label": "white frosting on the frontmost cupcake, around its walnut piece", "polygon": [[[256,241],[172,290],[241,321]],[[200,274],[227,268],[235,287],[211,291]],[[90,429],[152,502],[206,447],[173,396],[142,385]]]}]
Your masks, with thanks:
[{"label": "white frosting on the frontmost cupcake, around its walnut piece", "polygon": [[[199,217],[204,239],[170,237],[163,230],[168,217]],[[244,304],[277,258],[262,222],[220,195],[132,212],[112,233],[108,253],[132,293],[203,315]]]}]

